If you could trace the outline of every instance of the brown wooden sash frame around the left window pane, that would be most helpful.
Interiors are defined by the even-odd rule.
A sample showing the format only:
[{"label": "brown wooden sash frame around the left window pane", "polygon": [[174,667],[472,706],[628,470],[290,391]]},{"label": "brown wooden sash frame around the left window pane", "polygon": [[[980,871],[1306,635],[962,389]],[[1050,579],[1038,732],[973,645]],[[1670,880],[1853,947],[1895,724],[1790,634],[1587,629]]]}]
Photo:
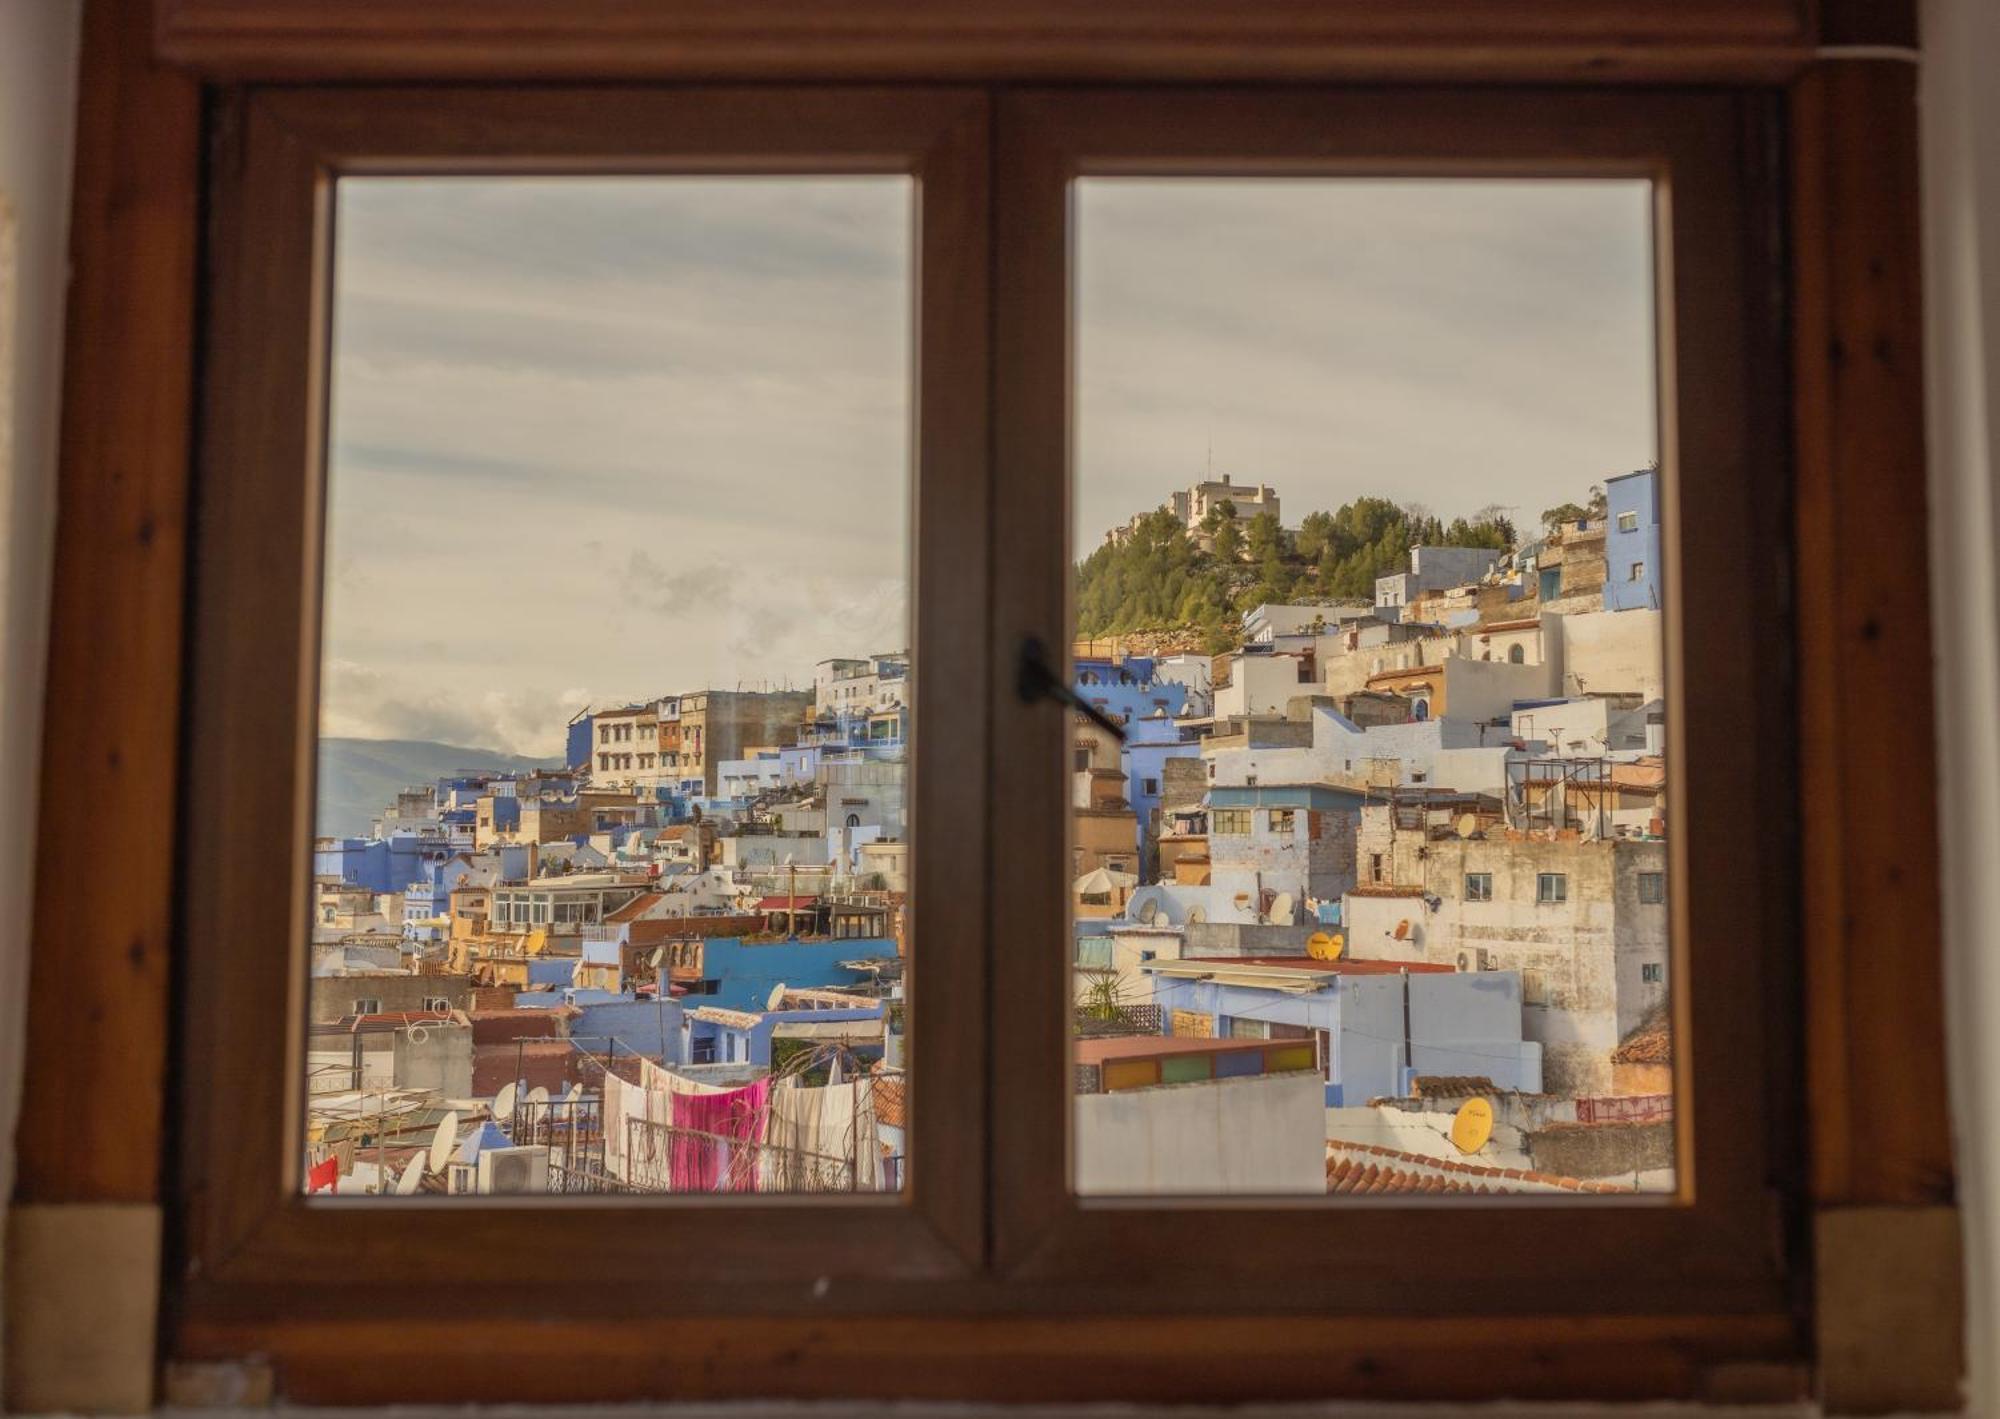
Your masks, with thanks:
[{"label": "brown wooden sash frame around the left window pane", "polygon": [[[282,1297],[322,1317],[420,1315],[440,1289],[492,1287],[512,1297],[494,1309],[618,1315],[674,1275],[718,1309],[770,1311],[810,1307],[824,1277],[896,1295],[968,1275],[984,1245],[986,807],[984,779],[942,759],[948,749],[984,761],[984,654],[962,628],[986,618],[986,96],[250,90],[220,134],[182,825],[184,1309],[254,1315]],[[430,172],[916,178],[910,935],[926,947],[910,973],[922,1059],[910,1109],[924,1143],[906,1193],[478,1205],[302,1195],[332,198],[344,176]],[[272,823],[290,829],[276,839],[282,857]],[[270,869],[244,873],[232,865],[242,861]],[[302,1297],[300,1271],[328,1279]],[[386,1295],[398,1297],[388,1311]]]}]

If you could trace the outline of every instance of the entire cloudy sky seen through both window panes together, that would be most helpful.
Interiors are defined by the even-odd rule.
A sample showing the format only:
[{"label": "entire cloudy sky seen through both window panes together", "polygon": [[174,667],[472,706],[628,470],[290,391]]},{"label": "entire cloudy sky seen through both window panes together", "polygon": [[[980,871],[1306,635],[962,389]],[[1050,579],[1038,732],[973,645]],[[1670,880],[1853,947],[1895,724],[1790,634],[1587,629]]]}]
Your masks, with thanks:
[{"label": "entire cloudy sky seen through both window panes together", "polygon": [[[908,644],[912,184],[346,178],[322,721],[556,753],[586,706]],[[1090,178],[1076,550],[1214,470],[1284,522],[1656,456],[1646,184]]]}]

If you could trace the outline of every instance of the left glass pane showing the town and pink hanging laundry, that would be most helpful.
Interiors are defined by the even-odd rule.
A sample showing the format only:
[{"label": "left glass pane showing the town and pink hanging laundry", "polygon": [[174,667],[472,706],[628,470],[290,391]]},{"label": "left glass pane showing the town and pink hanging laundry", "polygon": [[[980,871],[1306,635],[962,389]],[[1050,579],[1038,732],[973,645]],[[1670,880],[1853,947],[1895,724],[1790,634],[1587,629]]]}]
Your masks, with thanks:
[{"label": "left glass pane showing the town and pink hanging laundry", "polygon": [[912,202],[340,182],[308,1191],[900,1187]]}]

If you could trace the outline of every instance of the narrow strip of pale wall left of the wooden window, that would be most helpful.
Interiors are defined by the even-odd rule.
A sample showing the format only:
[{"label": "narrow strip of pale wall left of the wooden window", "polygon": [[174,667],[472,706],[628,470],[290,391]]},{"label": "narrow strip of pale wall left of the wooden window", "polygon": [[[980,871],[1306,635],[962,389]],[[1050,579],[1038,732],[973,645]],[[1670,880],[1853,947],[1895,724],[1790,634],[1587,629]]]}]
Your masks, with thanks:
[{"label": "narrow strip of pale wall left of the wooden window", "polygon": [[[14,1191],[80,0],[0,0],[0,1207]],[[0,218],[4,222],[4,218]],[[6,238],[0,236],[0,244]]]}]

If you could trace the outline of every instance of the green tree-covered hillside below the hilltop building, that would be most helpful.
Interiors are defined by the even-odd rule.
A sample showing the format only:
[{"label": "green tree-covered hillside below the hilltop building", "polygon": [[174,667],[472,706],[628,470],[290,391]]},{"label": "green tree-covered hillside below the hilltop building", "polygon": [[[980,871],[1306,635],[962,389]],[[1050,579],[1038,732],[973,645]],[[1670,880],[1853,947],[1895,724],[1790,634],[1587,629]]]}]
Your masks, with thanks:
[{"label": "green tree-covered hillside below the hilltop building", "polygon": [[1510,548],[1514,528],[1496,510],[1444,524],[1388,498],[1356,498],[1314,512],[1286,532],[1270,514],[1246,528],[1210,514],[1204,552],[1174,514],[1146,514],[1124,542],[1106,542],[1076,568],[1076,634],[1194,628],[1206,650],[1226,650],[1236,618],[1266,602],[1372,598],[1374,580],[1406,566],[1412,546]]}]

